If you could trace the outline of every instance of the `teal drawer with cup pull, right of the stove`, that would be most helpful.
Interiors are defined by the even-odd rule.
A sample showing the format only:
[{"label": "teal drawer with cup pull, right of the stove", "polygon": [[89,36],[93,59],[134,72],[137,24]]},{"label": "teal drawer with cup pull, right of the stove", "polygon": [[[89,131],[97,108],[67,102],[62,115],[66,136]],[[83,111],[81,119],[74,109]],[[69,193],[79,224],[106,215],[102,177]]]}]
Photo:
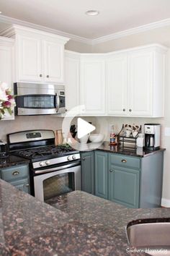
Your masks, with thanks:
[{"label": "teal drawer with cup pull, right of the stove", "polygon": [[123,167],[130,167],[130,168],[140,168],[140,159],[139,158],[132,158],[126,155],[116,155],[116,154],[109,154],[109,161],[113,165],[123,166]]}]

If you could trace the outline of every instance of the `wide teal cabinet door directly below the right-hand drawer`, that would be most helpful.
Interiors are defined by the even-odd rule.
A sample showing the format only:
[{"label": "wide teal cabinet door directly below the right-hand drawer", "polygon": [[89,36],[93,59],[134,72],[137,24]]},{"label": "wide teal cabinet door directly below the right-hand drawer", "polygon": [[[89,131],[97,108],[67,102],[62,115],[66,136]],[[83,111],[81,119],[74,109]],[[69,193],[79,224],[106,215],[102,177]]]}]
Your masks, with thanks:
[{"label": "wide teal cabinet door directly below the right-hand drawer", "polygon": [[140,171],[109,166],[109,200],[130,208],[139,207]]}]

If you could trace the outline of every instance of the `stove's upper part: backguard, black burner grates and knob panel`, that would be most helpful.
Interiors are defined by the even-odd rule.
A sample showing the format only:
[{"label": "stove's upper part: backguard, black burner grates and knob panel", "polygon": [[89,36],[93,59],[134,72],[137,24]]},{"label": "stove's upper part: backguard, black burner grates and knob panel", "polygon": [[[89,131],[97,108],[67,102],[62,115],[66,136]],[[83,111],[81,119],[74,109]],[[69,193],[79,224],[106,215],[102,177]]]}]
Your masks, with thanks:
[{"label": "stove's upper part: backguard, black burner grates and knob panel", "polygon": [[52,166],[80,159],[79,151],[70,145],[54,145],[50,130],[17,132],[8,135],[9,150],[13,155],[27,158],[33,168]]}]

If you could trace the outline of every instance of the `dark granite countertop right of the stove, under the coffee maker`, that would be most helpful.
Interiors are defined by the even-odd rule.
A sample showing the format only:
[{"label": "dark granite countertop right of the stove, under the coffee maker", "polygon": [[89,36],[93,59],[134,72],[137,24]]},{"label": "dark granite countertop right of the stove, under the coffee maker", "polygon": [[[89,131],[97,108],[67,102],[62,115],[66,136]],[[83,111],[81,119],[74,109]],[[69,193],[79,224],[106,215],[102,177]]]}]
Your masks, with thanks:
[{"label": "dark granite countertop right of the stove, under the coffee maker", "polygon": [[135,156],[135,157],[146,157],[148,155],[156,154],[160,151],[166,150],[165,148],[160,148],[158,150],[145,150],[144,148],[122,148],[120,145],[113,146],[109,145],[109,142],[104,141],[101,145],[101,143],[86,143],[79,146],[79,150],[81,152],[86,151],[92,151],[92,150],[102,150],[108,153],[117,153],[120,155],[129,155],[129,156]]}]

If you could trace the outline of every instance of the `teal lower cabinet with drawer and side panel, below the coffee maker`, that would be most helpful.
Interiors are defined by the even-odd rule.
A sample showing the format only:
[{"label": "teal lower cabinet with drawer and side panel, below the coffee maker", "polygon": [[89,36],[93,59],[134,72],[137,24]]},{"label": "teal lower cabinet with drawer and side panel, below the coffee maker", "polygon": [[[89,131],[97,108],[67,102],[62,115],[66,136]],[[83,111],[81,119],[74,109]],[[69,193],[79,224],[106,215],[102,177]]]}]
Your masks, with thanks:
[{"label": "teal lower cabinet with drawer and side panel, below the coffee maker", "polygon": [[95,151],[95,195],[128,208],[161,206],[164,151],[143,158]]}]

